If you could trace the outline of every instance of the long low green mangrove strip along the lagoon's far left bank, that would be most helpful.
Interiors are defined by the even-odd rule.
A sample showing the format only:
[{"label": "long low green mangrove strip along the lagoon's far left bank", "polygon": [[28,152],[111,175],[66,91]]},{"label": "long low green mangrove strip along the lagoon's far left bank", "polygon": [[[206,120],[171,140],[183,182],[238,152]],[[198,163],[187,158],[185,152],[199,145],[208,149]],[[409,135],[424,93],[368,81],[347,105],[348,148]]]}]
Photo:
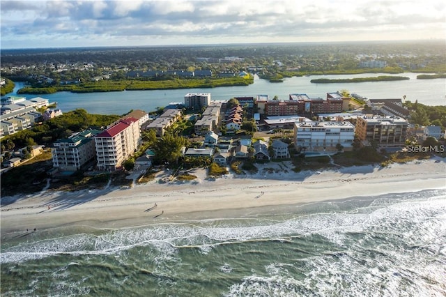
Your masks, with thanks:
[{"label": "long low green mangrove strip along the lagoon's far left bank", "polygon": [[169,80],[100,80],[98,82],[84,82],[81,84],[70,84],[63,86],[47,87],[25,87],[17,93],[27,94],[49,94],[59,91],[70,91],[72,93],[93,93],[112,91],[141,91],[141,90],[166,90],[166,89],[193,89],[193,88],[215,88],[217,86],[247,86],[254,83],[254,77],[228,77],[207,79],[169,79]]}]

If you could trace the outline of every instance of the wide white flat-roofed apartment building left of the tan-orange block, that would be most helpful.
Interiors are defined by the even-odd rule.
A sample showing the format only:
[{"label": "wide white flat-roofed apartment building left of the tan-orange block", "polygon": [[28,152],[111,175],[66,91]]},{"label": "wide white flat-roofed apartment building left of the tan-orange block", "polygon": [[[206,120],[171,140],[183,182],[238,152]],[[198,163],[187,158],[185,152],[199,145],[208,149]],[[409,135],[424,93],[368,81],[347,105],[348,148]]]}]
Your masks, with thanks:
[{"label": "wide white flat-roofed apartment building left of the tan-orange block", "polygon": [[306,151],[336,151],[341,144],[344,150],[353,148],[355,126],[348,122],[313,122],[294,124],[295,147]]}]

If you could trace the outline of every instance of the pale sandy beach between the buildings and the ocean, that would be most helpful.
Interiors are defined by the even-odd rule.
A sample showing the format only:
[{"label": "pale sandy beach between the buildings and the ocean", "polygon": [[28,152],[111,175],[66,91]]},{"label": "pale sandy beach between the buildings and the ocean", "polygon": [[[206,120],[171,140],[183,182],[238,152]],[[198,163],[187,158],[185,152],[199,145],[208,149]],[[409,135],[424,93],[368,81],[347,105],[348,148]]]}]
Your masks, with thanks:
[{"label": "pale sandy beach between the buildings and the ocean", "polygon": [[[282,170],[272,163],[257,174],[187,183],[151,183],[132,188],[43,191],[1,198],[1,236],[55,227],[122,228],[210,218],[252,218],[297,204],[392,192],[446,188],[446,160],[424,160],[389,167],[342,167],[323,172]],[[268,170],[266,170],[268,167]],[[286,167],[286,163],[285,163]],[[156,206],[155,206],[156,204]]]}]

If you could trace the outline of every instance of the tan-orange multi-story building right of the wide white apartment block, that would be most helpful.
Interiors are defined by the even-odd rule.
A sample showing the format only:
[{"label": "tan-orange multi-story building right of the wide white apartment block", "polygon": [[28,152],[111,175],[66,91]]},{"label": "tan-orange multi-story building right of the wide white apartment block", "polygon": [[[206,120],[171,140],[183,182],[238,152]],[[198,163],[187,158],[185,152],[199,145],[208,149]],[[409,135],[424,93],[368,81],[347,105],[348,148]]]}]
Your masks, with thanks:
[{"label": "tan-orange multi-story building right of the wide white apartment block", "polygon": [[407,128],[408,121],[398,116],[358,116],[356,119],[357,138],[381,146],[404,144]]}]

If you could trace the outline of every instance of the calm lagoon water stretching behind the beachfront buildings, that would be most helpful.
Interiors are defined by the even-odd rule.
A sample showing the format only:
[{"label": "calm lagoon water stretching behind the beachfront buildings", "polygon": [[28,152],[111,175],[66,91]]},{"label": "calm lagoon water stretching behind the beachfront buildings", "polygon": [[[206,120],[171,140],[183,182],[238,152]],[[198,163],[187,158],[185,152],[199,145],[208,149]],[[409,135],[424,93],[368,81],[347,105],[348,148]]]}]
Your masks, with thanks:
[{"label": "calm lagoon water stretching behind the beachfront buildings", "polygon": [[[311,77],[290,77],[283,83],[271,83],[266,79],[254,77],[254,84],[249,86],[222,86],[213,89],[176,89],[153,91],[122,91],[106,93],[70,93],[59,92],[43,95],[49,102],[57,102],[62,112],[76,108],[84,108],[93,114],[125,114],[130,109],[143,109],[146,112],[164,107],[169,102],[184,102],[186,93],[210,93],[212,100],[229,100],[233,97],[268,95],[278,96],[280,100],[288,99],[291,93],[305,93],[310,98],[325,98],[326,93],[348,90],[366,98],[402,98],[424,105],[445,105],[446,79],[416,79],[420,73],[399,73],[410,79],[394,82],[357,82],[313,84],[311,79],[377,77],[388,75],[383,73],[363,73],[360,75],[313,75]],[[18,82],[13,93],[15,95],[23,84]],[[36,95],[24,95],[33,98]]]}]

